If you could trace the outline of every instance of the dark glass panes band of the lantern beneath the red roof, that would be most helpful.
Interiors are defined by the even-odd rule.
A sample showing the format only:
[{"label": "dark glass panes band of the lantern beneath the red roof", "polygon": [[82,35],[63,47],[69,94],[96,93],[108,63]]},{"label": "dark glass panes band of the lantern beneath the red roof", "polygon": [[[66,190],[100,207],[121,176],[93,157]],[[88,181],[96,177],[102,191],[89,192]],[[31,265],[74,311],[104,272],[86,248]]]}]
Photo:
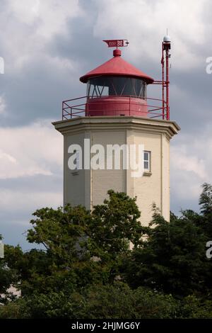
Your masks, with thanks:
[{"label": "dark glass panes band of the lantern beneath the red roof", "polygon": [[146,98],[146,82],[133,77],[93,77],[88,80],[87,96],[133,96]]}]

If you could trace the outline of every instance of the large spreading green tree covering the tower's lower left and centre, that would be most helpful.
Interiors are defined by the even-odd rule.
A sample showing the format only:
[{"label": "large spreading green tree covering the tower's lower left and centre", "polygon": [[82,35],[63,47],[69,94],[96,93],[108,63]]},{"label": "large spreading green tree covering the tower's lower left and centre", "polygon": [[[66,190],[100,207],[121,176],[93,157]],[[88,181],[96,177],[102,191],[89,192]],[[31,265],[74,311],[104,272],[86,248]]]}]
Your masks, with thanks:
[{"label": "large spreading green tree covering the tower's lower left and centre", "polygon": [[114,191],[108,194],[108,200],[93,212],[66,205],[33,214],[28,241],[42,244],[45,251],[33,249],[15,264],[23,295],[67,293],[117,278],[129,242],[139,244],[140,213],[136,199]]}]

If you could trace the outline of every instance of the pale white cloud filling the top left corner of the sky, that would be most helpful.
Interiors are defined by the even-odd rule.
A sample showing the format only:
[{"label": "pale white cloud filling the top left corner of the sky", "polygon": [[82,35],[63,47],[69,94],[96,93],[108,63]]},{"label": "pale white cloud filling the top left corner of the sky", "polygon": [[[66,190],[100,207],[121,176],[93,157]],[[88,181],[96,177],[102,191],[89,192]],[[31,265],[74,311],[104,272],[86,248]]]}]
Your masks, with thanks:
[{"label": "pale white cloud filling the top left corner of the sky", "polygon": [[[8,0],[0,12],[1,50],[6,73],[28,67],[37,58],[55,62],[47,47],[57,35],[71,38],[73,18],[83,16],[78,0]],[[49,53],[49,54],[48,54]],[[56,57],[57,58],[57,57]],[[71,60],[57,58],[57,64],[69,66]],[[76,67],[76,64],[71,68]],[[59,68],[58,68],[59,69]]]}]

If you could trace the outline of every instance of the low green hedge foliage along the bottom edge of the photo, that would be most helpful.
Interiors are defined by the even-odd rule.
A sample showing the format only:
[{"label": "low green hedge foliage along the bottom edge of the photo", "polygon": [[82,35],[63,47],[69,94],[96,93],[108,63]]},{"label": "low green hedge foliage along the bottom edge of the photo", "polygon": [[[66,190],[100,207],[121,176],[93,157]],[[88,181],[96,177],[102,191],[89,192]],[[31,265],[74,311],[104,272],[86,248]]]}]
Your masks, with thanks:
[{"label": "low green hedge foliage along the bottom edge of the photo", "polygon": [[[16,305],[14,305],[16,304]],[[145,288],[131,290],[124,283],[90,286],[81,293],[35,294],[0,307],[0,317],[69,319],[175,318],[177,300]]]}]

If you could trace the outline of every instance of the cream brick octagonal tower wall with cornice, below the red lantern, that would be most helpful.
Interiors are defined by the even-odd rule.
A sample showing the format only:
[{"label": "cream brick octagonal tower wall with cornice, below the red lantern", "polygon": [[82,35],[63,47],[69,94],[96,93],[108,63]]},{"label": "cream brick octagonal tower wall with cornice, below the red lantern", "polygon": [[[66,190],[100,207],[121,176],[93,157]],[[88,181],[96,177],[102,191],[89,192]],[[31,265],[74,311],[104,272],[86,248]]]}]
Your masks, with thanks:
[{"label": "cream brick octagonal tower wall with cornice, below the red lantern", "polygon": [[[175,122],[126,116],[82,117],[56,122],[54,127],[64,135],[64,203],[92,209],[112,188],[137,197],[143,225],[151,221],[153,203],[169,220],[170,139],[179,130]],[[131,169],[123,169],[122,164],[120,170],[71,171],[68,148],[73,144],[83,148],[84,139],[90,139],[90,145],[102,145],[105,151],[107,145],[142,144],[151,152],[151,170],[140,178],[132,177]]]}]

